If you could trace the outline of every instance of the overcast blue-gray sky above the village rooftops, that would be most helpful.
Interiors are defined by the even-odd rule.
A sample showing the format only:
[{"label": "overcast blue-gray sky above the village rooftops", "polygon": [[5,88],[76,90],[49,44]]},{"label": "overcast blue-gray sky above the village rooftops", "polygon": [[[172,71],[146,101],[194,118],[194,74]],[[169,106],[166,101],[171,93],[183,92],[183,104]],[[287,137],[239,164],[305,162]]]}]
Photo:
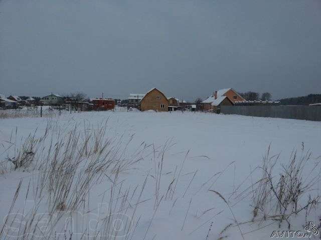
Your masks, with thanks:
[{"label": "overcast blue-gray sky above the village rooftops", "polygon": [[321,0],[0,0],[0,93],[321,92]]}]

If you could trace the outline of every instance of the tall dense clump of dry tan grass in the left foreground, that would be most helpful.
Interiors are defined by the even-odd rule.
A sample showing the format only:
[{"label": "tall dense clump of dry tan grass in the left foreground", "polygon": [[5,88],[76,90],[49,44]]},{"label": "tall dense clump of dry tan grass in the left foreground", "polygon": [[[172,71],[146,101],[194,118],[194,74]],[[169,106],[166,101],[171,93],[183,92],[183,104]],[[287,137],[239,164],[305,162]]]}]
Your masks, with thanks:
[{"label": "tall dense clump of dry tan grass in the left foreground", "polygon": [[140,159],[137,153],[125,157],[122,141],[105,134],[105,125],[84,132],[75,126],[50,142],[38,169],[37,196],[49,192],[51,211],[77,209],[103,176],[126,170]]}]

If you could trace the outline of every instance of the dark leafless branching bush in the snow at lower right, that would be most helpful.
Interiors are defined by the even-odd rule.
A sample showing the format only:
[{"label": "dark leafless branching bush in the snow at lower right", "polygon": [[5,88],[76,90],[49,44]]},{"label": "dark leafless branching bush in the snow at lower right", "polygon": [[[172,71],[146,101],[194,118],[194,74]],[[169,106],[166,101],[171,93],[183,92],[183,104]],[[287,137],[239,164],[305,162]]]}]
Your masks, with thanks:
[{"label": "dark leafless branching bush in the snow at lower right", "polygon": [[[320,196],[313,194],[313,186],[320,180],[315,173],[319,162],[311,162],[311,152],[302,149],[300,155],[293,150],[287,164],[281,164],[276,173],[280,154],[269,156],[270,147],[259,167],[262,177],[253,183],[253,217],[276,220],[279,227],[283,220],[290,228],[290,217],[302,210],[315,207]],[[308,168],[308,169],[305,169]]]}]

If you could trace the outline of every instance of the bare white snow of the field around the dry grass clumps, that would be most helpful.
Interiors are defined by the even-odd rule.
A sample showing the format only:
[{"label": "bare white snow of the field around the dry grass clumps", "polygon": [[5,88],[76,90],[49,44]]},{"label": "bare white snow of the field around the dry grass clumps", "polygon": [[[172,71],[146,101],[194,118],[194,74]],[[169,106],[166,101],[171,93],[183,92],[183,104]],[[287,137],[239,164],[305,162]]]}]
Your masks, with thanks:
[{"label": "bare white snow of the field around the dry grass clumps", "polygon": [[[273,230],[280,230],[278,223],[272,220],[251,222],[253,193],[242,192],[260,177],[260,172],[254,169],[261,165],[269,144],[270,155],[280,153],[277,170],[281,169],[281,163],[288,161],[293,149],[301,151],[302,144],[304,151],[312,152],[309,166],[315,166],[321,155],[321,122],[313,121],[200,112],[126,112],[124,109],[115,112],[64,113],[53,118],[0,119],[0,161],[5,161],[0,169],[5,171],[0,175],[0,218],[4,219],[8,214],[21,179],[22,187],[13,212],[25,209],[26,214],[27,209],[32,209],[37,201],[37,163],[13,170],[7,162],[8,157],[16,156],[30,133],[34,134],[37,128],[35,137],[41,137],[46,126],[47,129],[49,126],[55,142],[56,137],[68,134],[75,125],[78,125],[76,130],[82,132],[85,129],[93,130],[106,120],[107,133],[104,139],[119,139],[121,143],[118,146],[125,149],[126,157],[143,148],[139,152],[141,159],[119,172],[113,188],[120,192],[119,201],[120,196],[129,192],[125,201],[129,202],[130,209],[121,214],[135,223],[129,230],[130,234],[116,239],[242,239],[227,204],[210,189],[225,197],[237,222],[242,223],[239,226],[245,239],[268,239]],[[47,157],[45,154],[41,156]],[[158,162],[162,164],[162,159],[163,167],[158,178]],[[94,182],[77,209],[65,209],[65,215],[55,226],[57,239],[65,239],[65,234],[69,239],[71,233],[72,239],[80,239],[81,233],[88,229],[88,221],[89,225],[93,224],[90,220],[98,213],[108,215],[109,210],[100,208],[101,205],[110,204],[112,180],[109,178],[114,179],[114,174],[105,174]],[[278,172],[275,174],[278,175]],[[146,185],[139,198],[145,179]],[[29,183],[32,193],[27,194]],[[155,188],[159,190],[155,191]],[[155,192],[158,192],[158,196]],[[50,202],[47,195],[45,192],[39,200],[38,212],[48,212]],[[77,215],[77,212],[82,215]],[[121,220],[124,219],[123,215]],[[313,210],[308,220],[319,224],[320,215],[320,211]],[[68,216],[73,219],[73,224],[66,227],[64,222],[67,222]],[[230,223],[232,226],[220,233]],[[304,223],[304,214],[298,214],[291,218],[290,228],[303,230]],[[286,222],[281,224],[282,229],[287,229]]]}]

